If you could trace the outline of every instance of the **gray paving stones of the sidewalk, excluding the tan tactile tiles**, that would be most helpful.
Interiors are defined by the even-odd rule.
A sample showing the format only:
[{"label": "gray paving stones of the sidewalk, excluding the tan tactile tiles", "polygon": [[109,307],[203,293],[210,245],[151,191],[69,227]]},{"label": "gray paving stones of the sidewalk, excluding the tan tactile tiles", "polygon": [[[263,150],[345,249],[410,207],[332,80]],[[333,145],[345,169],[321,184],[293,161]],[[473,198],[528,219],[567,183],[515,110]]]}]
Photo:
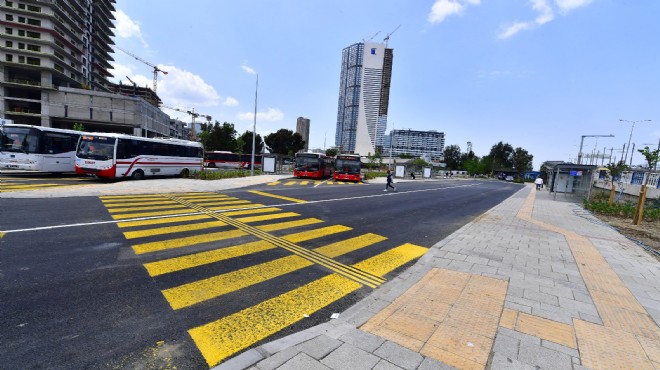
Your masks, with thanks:
[{"label": "gray paving stones of the sidewalk, excluding the tan tactile tiles", "polygon": [[[360,330],[432,268],[508,281],[505,309],[552,322],[602,325],[566,238],[517,217],[531,186],[435,244],[410,269],[338,319],[248,350],[215,370],[452,369]],[[660,323],[660,264],[579,205],[536,194],[533,218],[589,238],[649,315]],[[581,369],[578,349],[500,326],[488,369]]]}]

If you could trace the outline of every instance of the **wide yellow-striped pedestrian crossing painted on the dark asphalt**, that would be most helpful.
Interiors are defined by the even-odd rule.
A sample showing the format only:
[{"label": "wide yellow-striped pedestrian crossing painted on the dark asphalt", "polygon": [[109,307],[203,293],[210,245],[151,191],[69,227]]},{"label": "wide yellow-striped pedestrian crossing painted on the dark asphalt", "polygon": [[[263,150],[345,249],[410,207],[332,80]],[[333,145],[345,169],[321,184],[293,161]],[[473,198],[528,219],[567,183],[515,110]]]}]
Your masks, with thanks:
[{"label": "wide yellow-striped pedestrian crossing painted on the dark asphalt", "polygon": [[[100,198],[174,312],[222,302],[245,289],[295,275],[293,289],[245,302],[235,312],[208,317],[201,325],[190,324],[188,333],[209,366],[351,293],[377,288],[388,273],[427,251],[219,193]],[[240,263],[257,254],[258,263]],[[210,274],[216,267],[217,273]],[[197,276],[198,270],[205,271],[199,278],[176,279],[183,273]],[[301,276],[310,276],[309,281]]]}]

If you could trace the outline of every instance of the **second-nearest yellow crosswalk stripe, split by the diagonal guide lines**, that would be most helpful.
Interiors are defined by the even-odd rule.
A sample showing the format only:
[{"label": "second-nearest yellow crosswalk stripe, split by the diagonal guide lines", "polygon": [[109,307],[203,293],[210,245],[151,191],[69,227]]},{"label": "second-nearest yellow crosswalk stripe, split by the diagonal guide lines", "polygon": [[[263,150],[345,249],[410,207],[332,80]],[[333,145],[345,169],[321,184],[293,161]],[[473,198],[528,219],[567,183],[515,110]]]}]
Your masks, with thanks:
[{"label": "second-nearest yellow crosswalk stripe, split by the diagonal guide lines", "polygon": [[[316,251],[320,253],[322,253],[321,251],[328,252],[328,257],[337,257],[385,239],[387,238],[368,234],[320,247]],[[170,306],[178,310],[266,280],[274,279],[293,271],[301,270],[313,264],[310,260],[293,255],[165,289],[162,293]]]}]

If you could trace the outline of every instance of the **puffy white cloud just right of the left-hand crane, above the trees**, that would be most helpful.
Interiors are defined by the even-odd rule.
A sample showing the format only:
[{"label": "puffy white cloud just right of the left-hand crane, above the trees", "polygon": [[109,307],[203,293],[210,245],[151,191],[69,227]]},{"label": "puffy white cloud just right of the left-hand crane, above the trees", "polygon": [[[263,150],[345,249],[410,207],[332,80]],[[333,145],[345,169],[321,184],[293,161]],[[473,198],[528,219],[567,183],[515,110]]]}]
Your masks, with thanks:
[{"label": "puffy white cloud just right of the left-hand crane, above the trees", "polygon": [[165,105],[196,108],[220,104],[220,95],[200,76],[174,66],[158,65],[158,68],[167,71],[166,76],[159,75],[158,79],[158,96]]}]

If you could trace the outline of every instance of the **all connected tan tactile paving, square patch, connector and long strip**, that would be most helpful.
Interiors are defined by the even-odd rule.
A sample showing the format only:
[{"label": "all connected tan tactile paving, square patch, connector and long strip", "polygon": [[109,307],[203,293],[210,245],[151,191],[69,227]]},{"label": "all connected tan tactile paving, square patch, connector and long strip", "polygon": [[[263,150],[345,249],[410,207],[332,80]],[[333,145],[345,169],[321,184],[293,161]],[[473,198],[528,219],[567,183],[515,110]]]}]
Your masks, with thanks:
[{"label": "all connected tan tactile paving, square patch, connector and long strip", "polygon": [[660,328],[591,241],[532,218],[536,192],[518,217],[566,237],[604,325],[573,325],[504,308],[507,282],[432,269],[361,329],[459,369],[484,369],[497,327],[578,349],[593,369],[660,370]]}]

